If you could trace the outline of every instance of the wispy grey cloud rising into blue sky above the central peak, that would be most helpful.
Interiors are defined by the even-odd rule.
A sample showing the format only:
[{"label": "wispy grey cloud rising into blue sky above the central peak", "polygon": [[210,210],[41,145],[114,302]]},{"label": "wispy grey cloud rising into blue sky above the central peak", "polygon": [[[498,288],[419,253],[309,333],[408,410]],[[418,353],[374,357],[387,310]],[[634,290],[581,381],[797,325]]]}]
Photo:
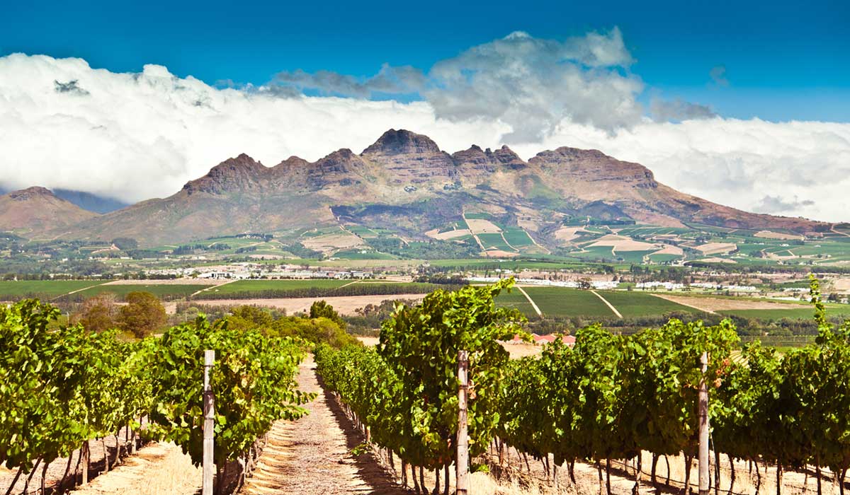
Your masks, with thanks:
[{"label": "wispy grey cloud rising into blue sky above the central peak", "polygon": [[617,28],[563,42],[515,31],[439,60],[427,73],[390,65],[368,78],[296,70],[280,72],[275,83],[355,98],[418,94],[440,119],[499,120],[511,127],[503,141],[523,143],[551,135],[565,118],[609,132],[638,123],[643,82],[628,73],[632,62]]}]

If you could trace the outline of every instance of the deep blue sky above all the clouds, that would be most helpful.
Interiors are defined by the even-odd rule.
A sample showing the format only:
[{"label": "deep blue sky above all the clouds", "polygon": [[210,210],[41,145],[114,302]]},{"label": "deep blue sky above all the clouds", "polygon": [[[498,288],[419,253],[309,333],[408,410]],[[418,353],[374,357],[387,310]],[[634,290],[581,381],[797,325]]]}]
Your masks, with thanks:
[{"label": "deep blue sky above all the clouds", "polygon": [[[850,120],[850,3],[430,2],[9,3],[0,56],[80,57],[96,68],[166,65],[207,83],[281,70],[371,76],[428,70],[512,31],[563,40],[618,26],[653,95],[770,121]],[[723,66],[728,85],[713,81]]]}]

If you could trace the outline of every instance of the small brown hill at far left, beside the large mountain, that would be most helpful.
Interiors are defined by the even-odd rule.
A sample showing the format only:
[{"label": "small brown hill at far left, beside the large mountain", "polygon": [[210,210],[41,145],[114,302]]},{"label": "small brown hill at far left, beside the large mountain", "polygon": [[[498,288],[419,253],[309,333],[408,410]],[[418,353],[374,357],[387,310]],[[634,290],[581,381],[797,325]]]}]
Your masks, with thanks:
[{"label": "small brown hill at far left, beside the large mountain", "polygon": [[71,225],[97,216],[47,188],[26,188],[0,196],[0,229],[29,238],[64,233]]}]

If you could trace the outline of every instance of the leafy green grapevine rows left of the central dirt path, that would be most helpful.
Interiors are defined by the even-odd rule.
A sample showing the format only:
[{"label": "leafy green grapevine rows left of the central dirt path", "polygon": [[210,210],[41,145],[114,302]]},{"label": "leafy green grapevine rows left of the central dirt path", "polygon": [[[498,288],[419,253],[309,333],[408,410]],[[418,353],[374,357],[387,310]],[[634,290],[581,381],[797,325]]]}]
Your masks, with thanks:
[{"label": "leafy green grapevine rows left of the central dirt path", "polygon": [[[0,307],[0,464],[17,470],[7,495],[21,475],[28,485],[42,470],[43,483],[59,458],[68,459],[59,491],[85,483],[94,460],[89,441],[106,436],[115,436],[117,446],[114,460],[104,449],[106,470],[122,447],[134,451],[150,440],[174,442],[200,464],[204,349],[218,355],[211,375],[218,479],[241,482],[272,422],[301,417],[299,406],[313,397],[295,386],[304,353],[291,339],[197,318],[159,337],[125,342],[116,331],[80,325],[48,330],[58,317],[58,309],[36,300]],[[241,473],[228,476],[224,470],[234,464]],[[220,483],[217,489],[224,492]]]}]

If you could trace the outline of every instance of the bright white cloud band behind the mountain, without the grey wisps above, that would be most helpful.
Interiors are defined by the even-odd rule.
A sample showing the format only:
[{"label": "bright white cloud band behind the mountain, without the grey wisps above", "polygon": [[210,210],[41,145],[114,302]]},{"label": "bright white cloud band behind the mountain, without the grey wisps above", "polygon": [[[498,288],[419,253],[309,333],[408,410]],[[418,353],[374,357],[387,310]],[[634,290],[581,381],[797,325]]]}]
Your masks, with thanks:
[{"label": "bright white cloud band behind the mountain, without the grey wisps above", "polygon": [[[616,53],[615,47],[582,56],[601,64],[618,60]],[[513,86],[494,94],[500,91]],[[533,99],[532,88],[527,97]],[[390,127],[428,134],[450,152],[471,143],[496,147],[516,131],[511,104],[505,108],[503,115],[448,119],[433,102],[281,98],[269,88],[218,89],[158,65],[118,74],[82,59],[13,54],[0,58],[0,184],[143,200],[173,194],[242,152],[269,166],[343,147],[359,153]],[[564,145],[601,149],[723,204],[788,206],[785,215],[850,220],[850,124],[640,117],[613,132],[593,124],[561,117],[542,139],[513,134],[512,146],[524,158]]]}]

